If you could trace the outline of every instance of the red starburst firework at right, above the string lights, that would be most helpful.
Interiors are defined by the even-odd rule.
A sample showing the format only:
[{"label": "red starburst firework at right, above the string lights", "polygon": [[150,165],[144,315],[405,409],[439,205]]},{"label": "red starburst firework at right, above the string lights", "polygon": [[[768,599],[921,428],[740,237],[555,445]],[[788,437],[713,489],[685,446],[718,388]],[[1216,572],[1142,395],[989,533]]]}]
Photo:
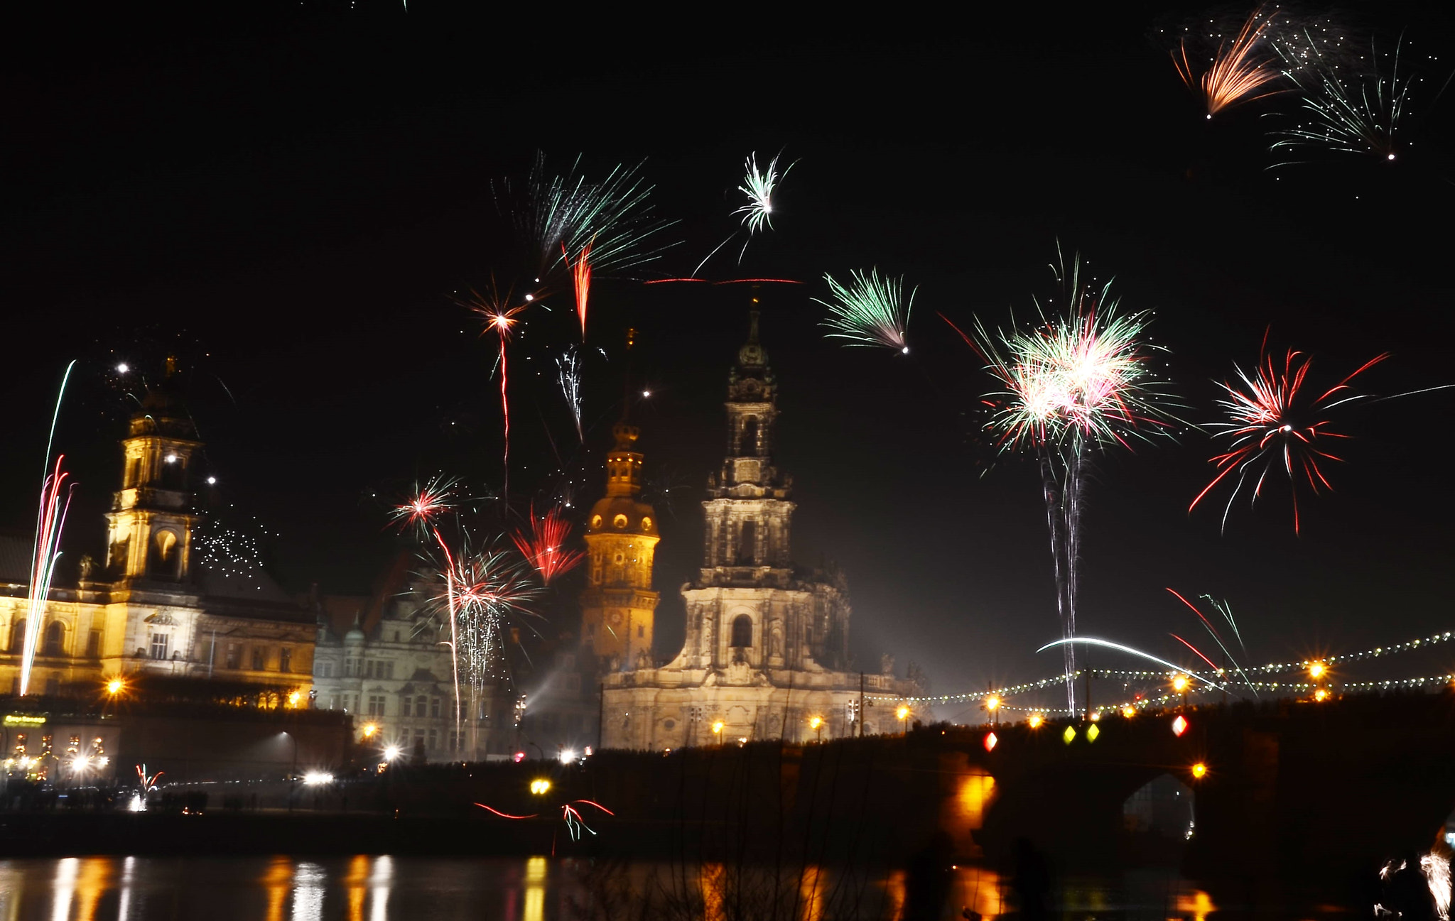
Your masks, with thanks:
[{"label": "red starburst firework at right, above the string lights", "polygon": [[[1237,473],[1237,485],[1228,496],[1228,505],[1222,511],[1222,530],[1228,528],[1228,514],[1243,487],[1253,480],[1253,496],[1250,505],[1256,503],[1263,492],[1263,483],[1275,467],[1282,466],[1288,474],[1293,503],[1293,533],[1298,534],[1298,483],[1308,480],[1310,487],[1317,495],[1320,485],[1333,489],[1328,477],[1320,466],[1321,461],[1340,461],[1330,454],[1326,442],[1334,438],[1349,438],[1328,428],[1324,413],[1365,399],[1355,394],[1350,381],[1379,364],[1390,354],[1384,352],[1362,364],[1353,374],[1349,374],[1337,384],[1324,390],[1312,400],[1305,399],[1305,384],[1312,358],[1302,352],[1289,349],[1283,356],[1282,367],[1276,365],[1267,352],[1267,336],[1259,355],[1259,364],[1253,375],[1234,365],[1237,383],[1221,383],[1225,397],[1218,400],[1225,418],[1211,423],[1213,434],[1228,439],[1228,450],[1215,455],[1209,463],[1215,464],[1218,474],[1208,483],[1197,498],[1192,501],[1187,511],[1197,508],[1219,483]],[[1339,397],[1339,399],[1334,399]]]}]

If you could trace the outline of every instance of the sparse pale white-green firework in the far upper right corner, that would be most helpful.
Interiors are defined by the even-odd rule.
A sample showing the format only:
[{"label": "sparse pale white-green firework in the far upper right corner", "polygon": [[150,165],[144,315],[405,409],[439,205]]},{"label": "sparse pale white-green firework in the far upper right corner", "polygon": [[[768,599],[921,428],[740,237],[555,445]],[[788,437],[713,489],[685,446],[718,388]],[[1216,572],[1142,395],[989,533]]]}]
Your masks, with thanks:
[{"label": "sparse pale white-green firework in the far upper right corner", "polygon": [[[1401,42],[1403,44],[1403,42]],[[1400,45],[1388,74],[1379,73],[1378,51],[1371,45],[1366,73],[1350,73],[1318,51],[1312,38],[1308,48],[1277,45],[1285,76],[1304,95],[1299,108],[1304,121],[1273,131],[1277,138],[1270,150],[1321,147],[1340,153],[1374,154],[1390,162],[1395,157],[1395,135],[1410,92],[1411,77],[1400,76]],[[1388,54],[1385,57],[1390,57]],[[1296,160],[1280,160],[1269,169]]]}]

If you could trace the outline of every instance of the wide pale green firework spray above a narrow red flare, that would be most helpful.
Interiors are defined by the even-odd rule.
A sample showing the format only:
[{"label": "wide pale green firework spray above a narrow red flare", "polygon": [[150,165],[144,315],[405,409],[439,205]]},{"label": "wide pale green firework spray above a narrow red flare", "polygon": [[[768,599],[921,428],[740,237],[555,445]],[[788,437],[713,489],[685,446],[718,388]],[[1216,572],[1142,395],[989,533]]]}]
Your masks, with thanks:
[{"label": "wide pale green firework spray above a narrow red flare", "polygon": [[521,195],[509,180],[501,183],[502,207],[517,230],[538,255],[538,274],[550,272],[566,256],[592,247],[598,271],[623,269],[656,259],[666,246],[643,249],[650,237],[677,221],[652,218],[653,186],[637,172],[642,164],[617,166],[601,182],[586,182],[576,172],[581,159],[565,176],[546,169],[546,154],[537,153]]}]

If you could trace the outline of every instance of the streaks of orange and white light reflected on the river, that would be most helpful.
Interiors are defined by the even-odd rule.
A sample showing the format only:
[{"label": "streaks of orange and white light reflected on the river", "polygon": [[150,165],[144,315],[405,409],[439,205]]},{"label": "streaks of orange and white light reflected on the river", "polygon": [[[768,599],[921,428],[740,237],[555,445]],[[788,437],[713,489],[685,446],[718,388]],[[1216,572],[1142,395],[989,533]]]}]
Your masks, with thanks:
[{"label": "streaks of orange and white light reflected on the river", "polygon": [[[912,901],[904,870],[870,877],[815,866],[776,874],[723,864],[688,874],[655,864],[602,872],[546,857],[64,857],[0,860],[0,921],[575,921],[623,909],[636,917],[620,901],[604,906],[602,896],[621,886],[661,895],[674,888],[663,889],[663,880],[681,886],[643,917],[742,917],[744,899],[764,898],[770,880],[783,899],[778,917],[793,921],[896,921]],[[1011,888],[991,870],[956,867],[947,885],[944,917],[973,908],[997,918],[1013,908]],[[1069,917],[1205,921],[1216,911],[1206,892],[1170,874],[1067,880],[1056,901]]]}]

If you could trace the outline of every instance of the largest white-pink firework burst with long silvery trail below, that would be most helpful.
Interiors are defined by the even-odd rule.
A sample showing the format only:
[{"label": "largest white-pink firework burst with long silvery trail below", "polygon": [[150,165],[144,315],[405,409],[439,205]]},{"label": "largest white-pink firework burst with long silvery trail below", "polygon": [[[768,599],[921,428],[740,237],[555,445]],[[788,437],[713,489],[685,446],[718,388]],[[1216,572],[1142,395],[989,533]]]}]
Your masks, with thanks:
[{"label": "largest white-pink firework burst with long silvery trail below", "polygon": [[[986,428],[998,432],[1000,450],[1030,450],[1040,463],[1056,610],[1065,637],[1074,639],[1087,454],[1129,447],[1132,436],[1170,434],[1179,419],[1170,412],[1176,403],[1167,383],[1148,368],[1151,354],[1163,351],[1144,340],[1151,313],[1119,313],[1110,282],[1100,290],[1083,285],[1080,259],[1069,272],[1058,269],[1056,278],[1067,297],[1062,314],[1048,317],[1037,303],[1035,327],[991,335],[976,320],[973,338],[960,335],[1004,387],[985,397],[994,410]],[[1064,655],[1067,698],[1075,711],[1074,646],[1068,643]]]}]

